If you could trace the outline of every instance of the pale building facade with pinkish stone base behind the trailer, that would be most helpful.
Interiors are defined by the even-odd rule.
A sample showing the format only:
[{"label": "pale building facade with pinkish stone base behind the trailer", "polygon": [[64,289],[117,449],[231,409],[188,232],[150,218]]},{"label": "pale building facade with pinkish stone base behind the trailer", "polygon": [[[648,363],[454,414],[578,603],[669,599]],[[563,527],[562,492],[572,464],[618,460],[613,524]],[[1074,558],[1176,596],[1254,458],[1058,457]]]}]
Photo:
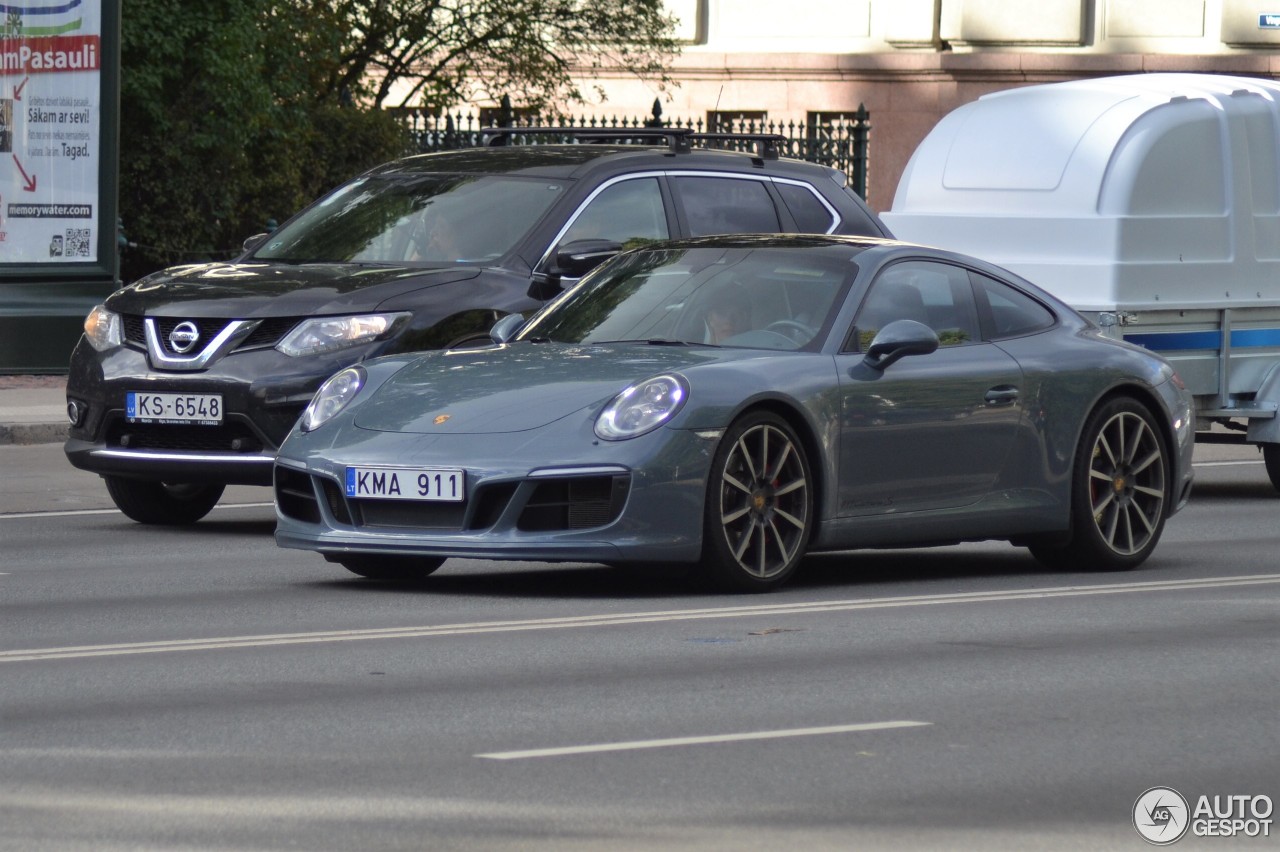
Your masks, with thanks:
[{"label": "pale building facade with pinkish stone base behind the trailer", "polygon": [[605,113],[813,127],[870,113],[868,202],[892,206],[956,106],[1029,83],[1147,72],[1280,77],[1280,0],[666,0],[678,86],[596,75]]}]

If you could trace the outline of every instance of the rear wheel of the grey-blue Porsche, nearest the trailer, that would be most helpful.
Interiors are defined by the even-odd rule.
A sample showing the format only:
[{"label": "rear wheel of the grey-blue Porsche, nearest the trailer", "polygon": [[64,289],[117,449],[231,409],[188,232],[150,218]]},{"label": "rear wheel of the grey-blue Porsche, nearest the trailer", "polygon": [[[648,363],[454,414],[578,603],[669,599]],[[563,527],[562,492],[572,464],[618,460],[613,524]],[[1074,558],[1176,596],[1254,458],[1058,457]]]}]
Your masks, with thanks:
[{"label": "rear wheel of the grey-blue Porsche, nearest the trailer", "polygon": [[1123,571],[1142,563],[1165,526],[1165,441],[1151,413],[1132,399],[1114,399],[1089,417],[1075,461],[1071,539],[1033,548],[1055,568]]}]

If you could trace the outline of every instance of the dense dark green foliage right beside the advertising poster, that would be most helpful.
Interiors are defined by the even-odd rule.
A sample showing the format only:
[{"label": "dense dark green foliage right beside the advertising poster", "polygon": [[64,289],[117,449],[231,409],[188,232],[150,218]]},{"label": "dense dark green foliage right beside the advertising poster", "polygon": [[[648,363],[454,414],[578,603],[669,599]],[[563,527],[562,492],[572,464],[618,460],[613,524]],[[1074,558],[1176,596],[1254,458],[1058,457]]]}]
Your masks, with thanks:
[{"label": "dense dark green foliage right beside the advertising poster", "polygon": [[120,216],[138,244],[125,280],[228,257],[266,219],[402,152],[389,115],[316,99],[287,45],[255,0],[124,5]]}]

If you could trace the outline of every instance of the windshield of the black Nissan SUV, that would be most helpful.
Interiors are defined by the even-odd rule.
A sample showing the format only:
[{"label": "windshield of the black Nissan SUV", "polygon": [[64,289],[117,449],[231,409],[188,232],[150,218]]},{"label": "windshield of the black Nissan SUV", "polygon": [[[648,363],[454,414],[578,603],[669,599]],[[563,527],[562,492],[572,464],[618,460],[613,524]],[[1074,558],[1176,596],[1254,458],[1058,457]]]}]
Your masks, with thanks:
[{"label": "windshield of the black Nissan SUV", "polygon": [[273,233],[253,260],[293,264],[485,264],[506,255],[563,184],[508,175],[360,178]]}]

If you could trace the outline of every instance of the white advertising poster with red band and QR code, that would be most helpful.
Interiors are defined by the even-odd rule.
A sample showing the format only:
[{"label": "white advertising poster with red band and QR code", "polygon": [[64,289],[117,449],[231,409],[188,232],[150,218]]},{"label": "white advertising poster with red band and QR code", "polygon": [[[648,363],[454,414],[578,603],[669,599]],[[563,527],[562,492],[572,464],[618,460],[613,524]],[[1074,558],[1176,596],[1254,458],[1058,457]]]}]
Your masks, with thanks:
[{"label": "white advertising poster with red band and QR code", "polygon": [[0,0],[0,264],[96,264],[102,0]]}]

